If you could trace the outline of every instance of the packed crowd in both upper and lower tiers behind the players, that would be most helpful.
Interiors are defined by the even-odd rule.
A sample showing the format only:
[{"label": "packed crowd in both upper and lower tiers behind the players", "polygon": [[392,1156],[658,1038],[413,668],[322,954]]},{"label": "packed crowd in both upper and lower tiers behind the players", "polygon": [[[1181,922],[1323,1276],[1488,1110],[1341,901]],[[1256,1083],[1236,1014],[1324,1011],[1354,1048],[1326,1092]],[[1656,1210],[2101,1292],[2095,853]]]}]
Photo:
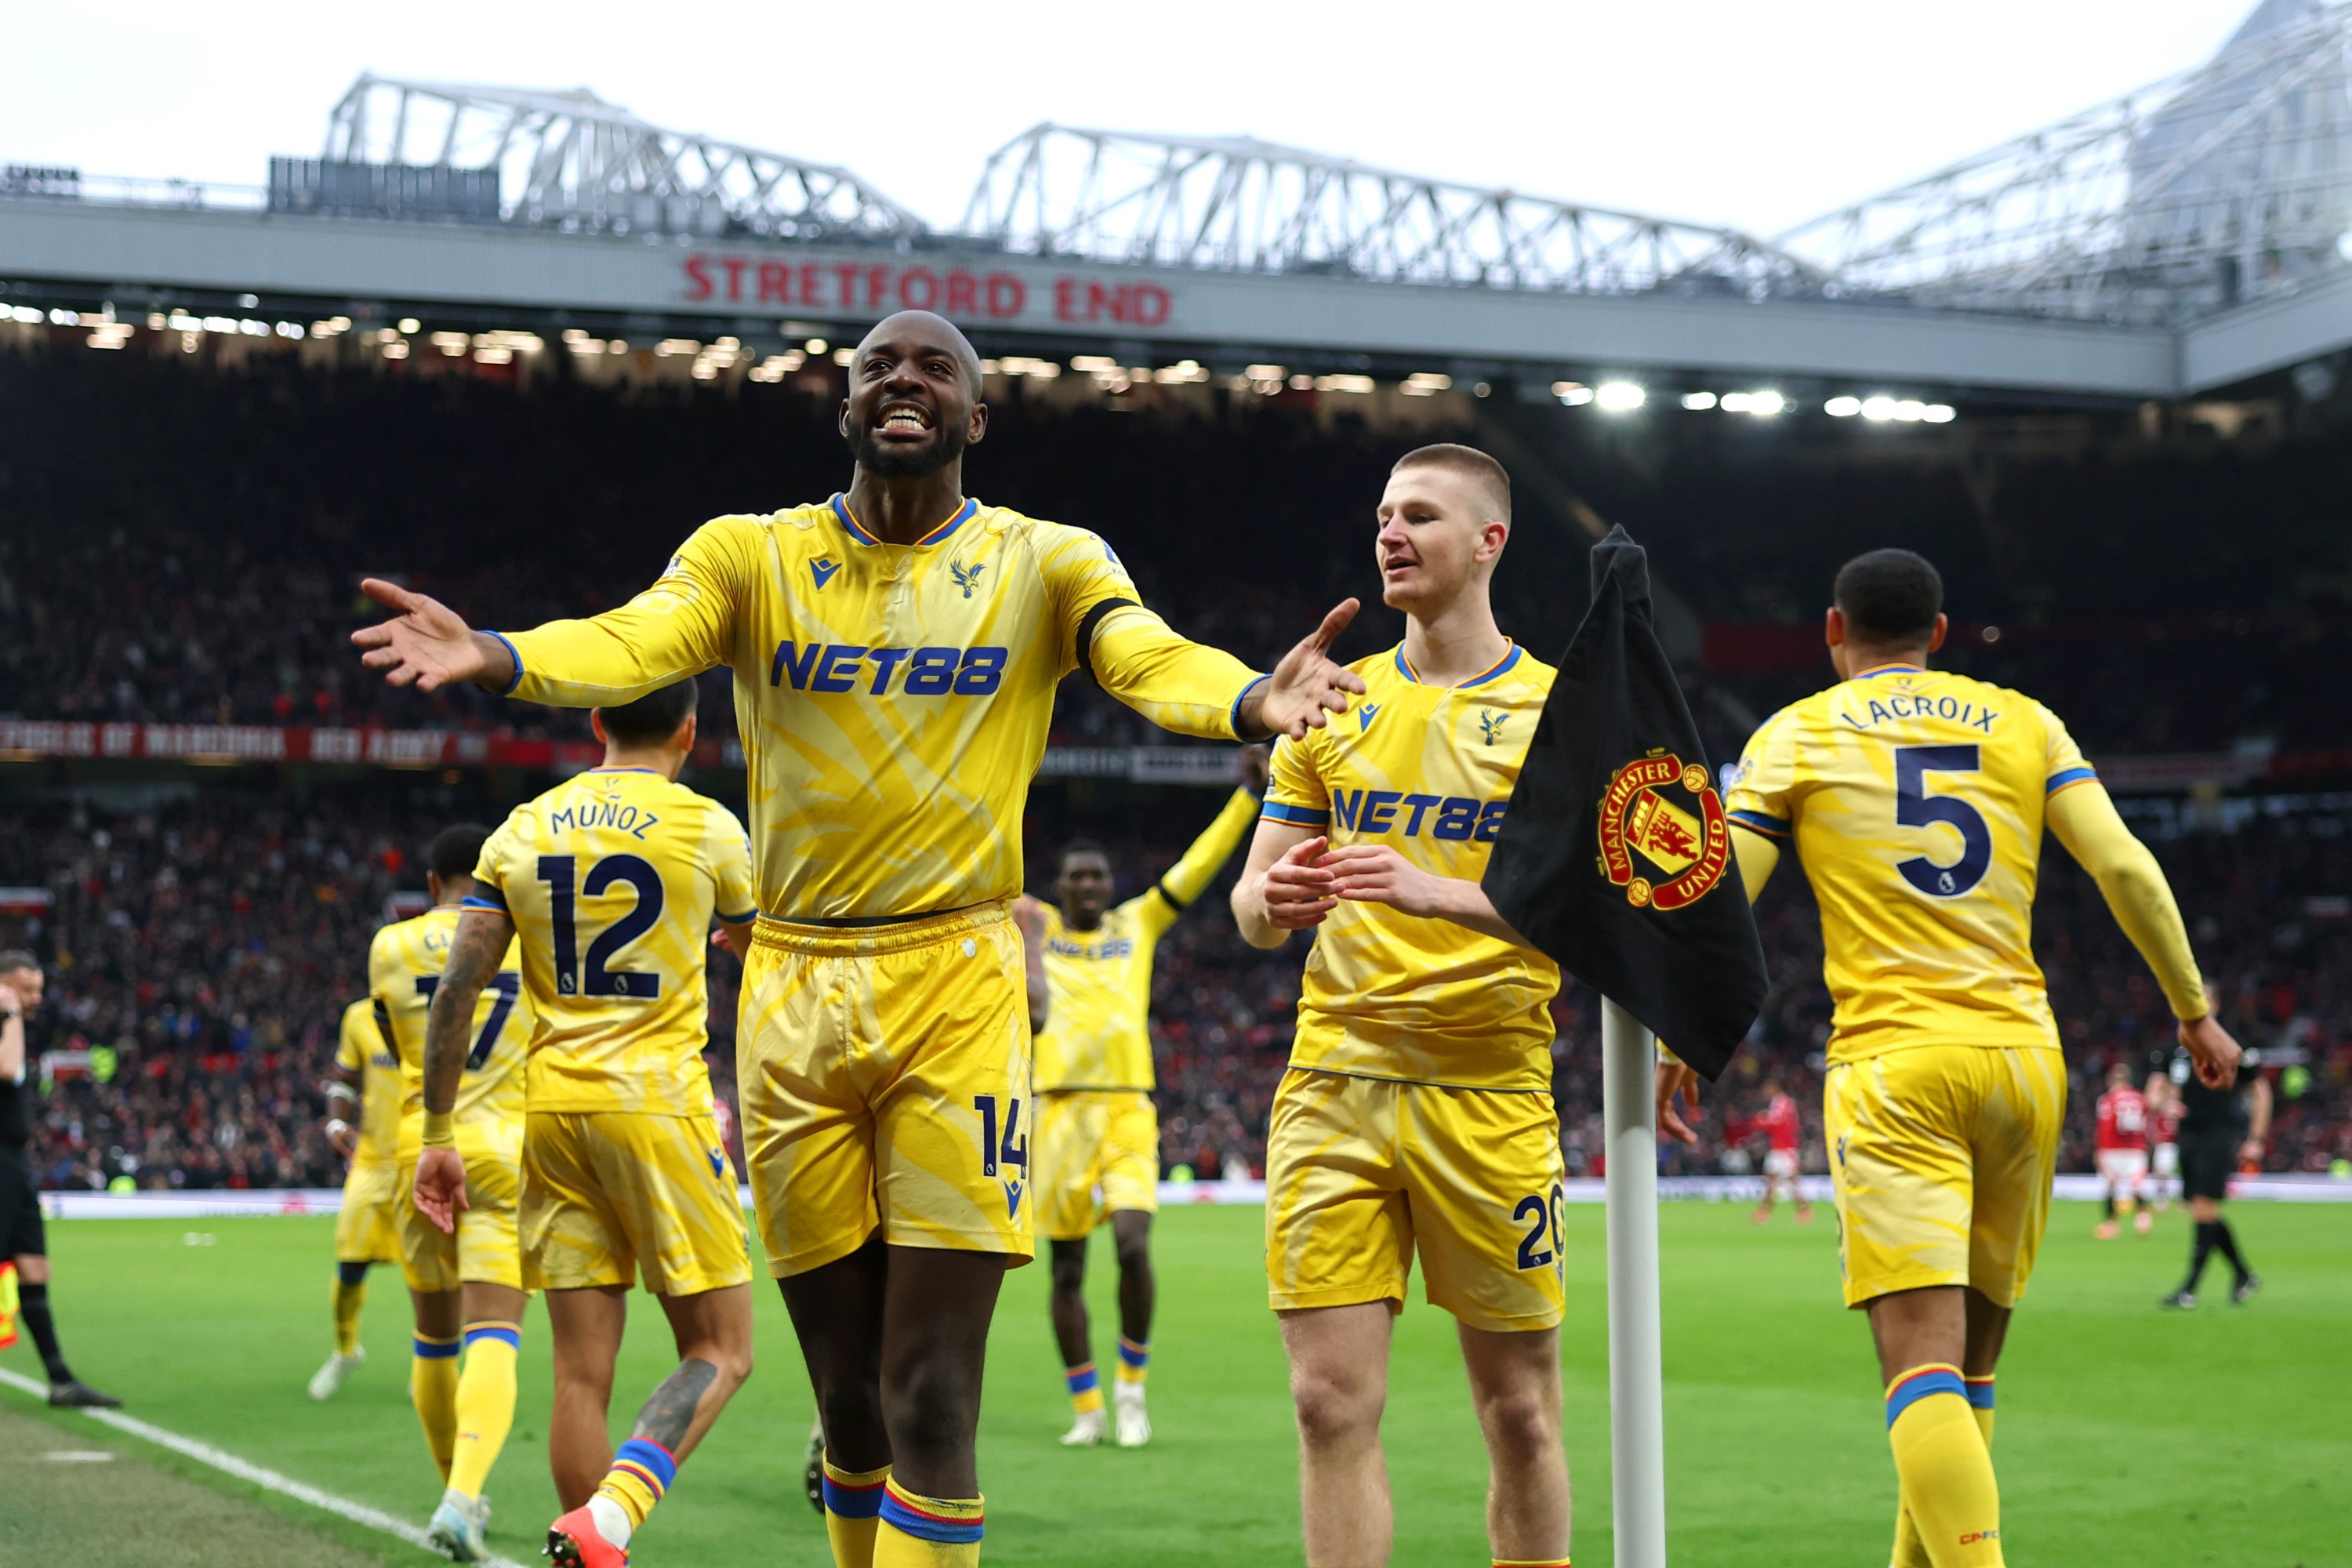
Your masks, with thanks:
[{"label": "packed crowd in both upper and lower tiers behind the players", "polygon": [[[586,738],[581,715],[386,689],[348,649],[367,616],[355,578],[405,576],[480,625],[583,614],[649,581],[699,520],[821,498],[844,473],[830,411],[793,388],[619,395],[0,355],[0,418],[19,437],[0,454],[0,717]],[[2288,442],[2258,461],[2016,458],[1987,473],[1764,465],[1726,447],[1661,468],[1576,430],[1562,425],[1562,475],[1599,515],[1628,522],[1658,581],[1724,632],[1710,630],[1712,668],[1691,670],[1693,708],[1724,757],[1745,724],[1825,679],[1816,607],[1837,562],[1877,543],[1917,545],[1945,569],[1964,623],[1950,663],[2034,691],[2093,757],[2352,738],[2352,696],[2296,679],[2352,654],[2352,571],[2343,543],[2321,534],[2352,503],[2340,444]],[[1279,404],[1221,416],[1007,404],[971,458],[971,484],[1096,527],[1181,630],[1265,661],[1329,602],[1369,588],[1385,468],[1437,435],[1482,440],[1477,428],[1399,435]],[[1508,632],[1555,656],[1583,607],[1583,534],[1543,515],[1538,489],[1524,487],[1498,609]],[[2211,527],[2256,498],[2260,534]],[[1343,654],[1395,635],[1374,604]],[[724,679],[706,682],[703,715],[706,733],[731,731]],[[1054,738],[1167,741],[1084,677],[1065,684]],[[310,795],[252,785],[146,780],[136,804],[120,790],[73,799],[59,788],[0,811],[0,886],[52,898],[0,912],[0,945],[24,943],[54,966],[56,1004],[35,1020],[35,1048],[56,1053],[35,1131],[47,1182],[339,1178],[318,1131],[318,1079],[341,1004],[365,990],[367,936],[395,893],[421,891],[416,856],[433,827],[496,820],[508,802],[480,795],[473,776]],[[713,776],[706,788],[739,785]],[[1037,889],[1068,827],[1056,802],[1044,790],[1033,806]],[[2164,802],[2136,825],[2223,985],[2223,1018],[2272,1053],[2270,1166],[2324,1171],[2352,1159],[2352,799],[2272,804],[2281,809],[2249,818],[2234,802]],[[1108,811],[1084,830],[1115,844],[1122,882],[1141,889],[1183,837],[1143,820],[1112,827]],[[1759,1145],[1743,1133],[1773,1079],[1806,1107],[1806,1168],[1823,1168],[1830,1004],[1797,879],[1773,886],[1762,924],[1773,994],[1752,1048],[1708,1100],[1700,1145],[1672,1147],[1670,1171],[1752,1164]],[[2138,1065],[2161,1051],[2166,1011],[2065,856],[2049,860],[2037,938],[2074,1072],[2063,1168],[2086,1168],[2098,1074],[2110,1056]],[[1221,889],[1162,945],[1164,1166],[1218,1175],[1261,1164],[1301,954],[1301,940],[1272,954],[1247,947]],[[1597,999],[1571,985],[1557,1020],[1562,1138],[1571,1173],[1585,1173],[1599,1150]],[[734,964],[722,957],[722,1086],[731,1034]]]}]

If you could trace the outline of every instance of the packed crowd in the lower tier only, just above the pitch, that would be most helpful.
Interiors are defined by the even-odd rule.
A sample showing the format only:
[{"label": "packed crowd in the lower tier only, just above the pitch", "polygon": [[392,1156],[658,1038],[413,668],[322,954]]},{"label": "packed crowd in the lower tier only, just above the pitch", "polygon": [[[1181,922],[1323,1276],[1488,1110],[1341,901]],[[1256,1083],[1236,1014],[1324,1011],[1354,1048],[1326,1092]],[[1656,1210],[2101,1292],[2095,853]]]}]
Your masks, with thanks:
[{"label": "packed crowd in the lower tier only, just above the pitch", "polygon": [[[442,795],[442,792],[433,792]],[[1207,802],[1204,802],[1207,804]],[[2223,1018],[2267,1051],[2277,1093],[2272,1171],[2352,1159],[2352,799],[2293,797],[2234,832],[2157,842]],[[320,1079],[343,1001],[365,990],[367,938],[390,898],[419,898],[416,856],[470,799],[393,792],[212,792],[132,811],[40,804],[0,816],[0,884],[45,886],[40,914],[0,917],[0,945],[52,964],[35,1018],[52,1084],[35,1164],[56,1187],[315,1187],[341,1178],[320,1138]],[[1030,879],[1049,842],[1030,835]],[[1127,889],[1183,842],[1122,844]],[[2098,891],[2063,856],[2044,879],[2039,952],[2074,1077],[2060,1168],[2091,1166],[2091,1105],[2105,1065],[2169,1048],[2164,999]],[[1820,1147],[1820,1044],[1830,999],[1802,884],[1773,886],[1762,929],[1773,992],[1750,1048],[1705,1100],[1700,1145],[1668,1145],[1670,1173],[1745,1173],[1762,1152],[1748,1126],[1780,1081],[1804,1107],[1806,1168]],[[1223,1175],[1263,1166],[1265,1110],[1289,1051],[1303,940],[1247,947],[1223,886],[1160,945],[1155,1053],[1162,1166]],[[731,1093],[734,959],[713,959],[710,1063]],[[1557,1004],[1555,1095],[1571,1173],[1599,1152],[1599,1004],[1571,985]],[[92,1060],[94,1058],[94,1060]],[[1726,1135],[1729,1133],[1729,1135]],[[1726,1161],[1729,1154],[1729,1161]]]}]

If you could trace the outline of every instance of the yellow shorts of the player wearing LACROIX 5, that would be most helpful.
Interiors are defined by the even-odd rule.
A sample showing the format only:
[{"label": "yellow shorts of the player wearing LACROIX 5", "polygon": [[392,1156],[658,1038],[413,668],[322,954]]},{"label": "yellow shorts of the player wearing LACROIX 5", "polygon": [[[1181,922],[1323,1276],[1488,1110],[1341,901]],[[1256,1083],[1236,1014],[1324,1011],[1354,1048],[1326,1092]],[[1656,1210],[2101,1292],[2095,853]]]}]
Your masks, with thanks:
[{"label": "yellow shorts of the player wearing LACROIX 5", "polygon": [[2065,1058],[1905,1046],[1832,1065],[1823,1100],[1846,1305],[1973,1286],[2013,1307],[2049,1222]]}]

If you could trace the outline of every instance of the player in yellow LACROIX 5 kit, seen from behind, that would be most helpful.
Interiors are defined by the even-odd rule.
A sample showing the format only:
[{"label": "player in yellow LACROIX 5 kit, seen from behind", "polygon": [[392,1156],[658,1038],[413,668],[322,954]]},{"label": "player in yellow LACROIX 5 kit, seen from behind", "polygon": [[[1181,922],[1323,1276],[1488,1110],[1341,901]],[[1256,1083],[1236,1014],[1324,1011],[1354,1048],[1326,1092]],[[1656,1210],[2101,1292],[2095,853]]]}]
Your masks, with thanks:
[{"label": "player in yellow LACROIX 5 kit, seen from behind", "polygon": [[[2002,1561],[1992,1387],[2049,1220],[2065,1058],[2032,954],[2044,825],[2154,969],[2197,1072],[2227,1081],[2180,910],[2074,750],[2027,696],[1929,670],[1943,578],[1910,550],[1837,574],[1839,684],[1748,741],[1726,806],[1748,896],[1780,846],[1820,900],[1835,1001],[1823,1131],[1846,1305],[1870,1314],[1900,1481],[1896,1568]],[[1658,1067],[1658,1114],[1689,1140]]]}]

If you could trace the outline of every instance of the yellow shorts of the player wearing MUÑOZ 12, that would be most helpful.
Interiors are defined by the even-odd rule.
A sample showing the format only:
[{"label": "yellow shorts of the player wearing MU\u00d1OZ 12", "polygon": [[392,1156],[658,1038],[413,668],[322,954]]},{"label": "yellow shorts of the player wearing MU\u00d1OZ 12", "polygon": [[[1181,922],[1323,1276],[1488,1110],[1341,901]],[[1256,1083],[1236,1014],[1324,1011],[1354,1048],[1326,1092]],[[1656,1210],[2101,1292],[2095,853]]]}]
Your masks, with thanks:
[{"label": "yellow shorts of the player wearing MU\u00d1OZ 12", "polygon": [[750,1284],[720,1124],[630,1110],[539,1112],[522,1128],[522,1286],[654,1295]]}]

